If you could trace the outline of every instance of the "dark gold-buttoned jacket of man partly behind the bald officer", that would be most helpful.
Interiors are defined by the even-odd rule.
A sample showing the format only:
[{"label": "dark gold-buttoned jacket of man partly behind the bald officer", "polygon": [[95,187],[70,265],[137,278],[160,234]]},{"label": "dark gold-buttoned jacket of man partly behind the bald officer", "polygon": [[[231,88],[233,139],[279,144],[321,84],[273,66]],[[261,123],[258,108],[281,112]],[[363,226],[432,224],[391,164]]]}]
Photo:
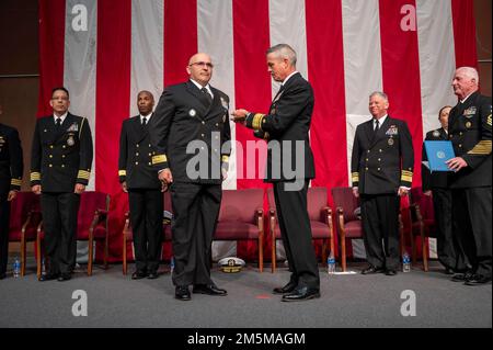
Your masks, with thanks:
[{"label": "dark gold-buttoned jacket of man partly behind the bald officer", "polygon": [[140,115],[123,122],[118,169],[119,182],[126,181],[128,189],[161,189],[158,171],[152,166],[149,126],[141,125]]}]

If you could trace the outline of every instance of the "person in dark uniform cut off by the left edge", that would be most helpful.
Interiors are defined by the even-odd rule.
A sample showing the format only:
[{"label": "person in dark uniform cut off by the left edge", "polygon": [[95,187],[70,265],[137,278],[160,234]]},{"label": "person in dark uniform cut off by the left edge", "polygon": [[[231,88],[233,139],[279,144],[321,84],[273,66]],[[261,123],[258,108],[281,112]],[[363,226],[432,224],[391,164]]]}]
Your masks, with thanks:
[{"label": "person in dark uniform cut off by the left edge", "polygon": [[[0,105],[0,115],[2,106]],[[21,190],[22,148],[15,128],[0,123],[0,280],[5,278],[9,258],[10,202]]]}]

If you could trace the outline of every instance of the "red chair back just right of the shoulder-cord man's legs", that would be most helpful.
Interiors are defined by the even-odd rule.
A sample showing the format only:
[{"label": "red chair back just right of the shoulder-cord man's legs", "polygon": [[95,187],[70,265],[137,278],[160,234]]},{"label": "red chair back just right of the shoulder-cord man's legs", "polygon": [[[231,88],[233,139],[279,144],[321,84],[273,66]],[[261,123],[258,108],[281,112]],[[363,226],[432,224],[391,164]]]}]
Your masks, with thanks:
[{"label": "red chair back just right of the shoulder-cord man's legs", "polygon": [[78,239],[87,239],[94,214],[98,210],[108,211],[108,195],[103,192],[85,191],[80,195],[80,206],[78,214]]}]

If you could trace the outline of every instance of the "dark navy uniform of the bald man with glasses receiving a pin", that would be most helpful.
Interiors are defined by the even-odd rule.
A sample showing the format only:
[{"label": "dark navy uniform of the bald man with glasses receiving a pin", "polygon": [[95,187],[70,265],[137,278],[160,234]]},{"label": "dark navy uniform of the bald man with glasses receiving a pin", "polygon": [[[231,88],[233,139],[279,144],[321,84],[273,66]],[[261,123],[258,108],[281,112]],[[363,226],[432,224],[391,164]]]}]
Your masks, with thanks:
[{"label": "dark navy uniform of the bald man with glasses receiving a pin", "polygon": [[[225,143],[231,136],[229,98],[215,88],[210,90],[214,99],[191,80],[168,87],[150,125],[156,147],[152,163],[158,171],[170,168],[173,176],[170,191],[175,286],[214,285],[211,242],[221,203],[221,167],[227,166],[230,155],[229,143]],[[187,146],[192,146],[192,153],[187,153]],[[200,163],[195,161],[197,158]]]}]

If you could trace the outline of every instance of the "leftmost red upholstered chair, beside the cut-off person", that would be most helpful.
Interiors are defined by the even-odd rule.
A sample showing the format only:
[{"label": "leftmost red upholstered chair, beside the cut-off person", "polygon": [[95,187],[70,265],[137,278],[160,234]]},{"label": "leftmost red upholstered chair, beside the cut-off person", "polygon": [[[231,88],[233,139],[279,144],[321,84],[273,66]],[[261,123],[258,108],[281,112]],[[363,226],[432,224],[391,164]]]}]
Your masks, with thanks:
[{"label": "leftmost red upholstered chair, beside the cut-off person", "polygon": [[21,275],[25,274],[26,244],[36,240],[39,222],[39,196],[32,192],[19,192],[11,202],[9,241],[21,242]]}]

